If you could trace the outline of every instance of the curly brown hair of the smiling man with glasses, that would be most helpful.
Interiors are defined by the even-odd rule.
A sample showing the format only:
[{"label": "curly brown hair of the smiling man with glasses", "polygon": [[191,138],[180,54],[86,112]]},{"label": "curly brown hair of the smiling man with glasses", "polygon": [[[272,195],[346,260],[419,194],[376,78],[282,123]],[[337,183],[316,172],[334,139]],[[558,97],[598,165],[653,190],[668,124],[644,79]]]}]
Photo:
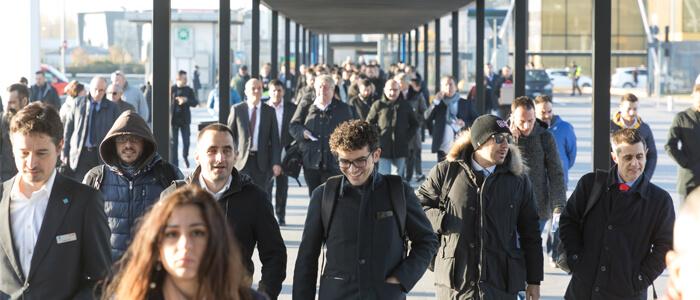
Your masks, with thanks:
[{"label": "curly brown hair of the smiling man with glasses", "polygon": [[360,150],[365,146],[373,152],[379,148],[379,129],[363,120],[345,121],[333,130],[328,144],[333,153]]}]

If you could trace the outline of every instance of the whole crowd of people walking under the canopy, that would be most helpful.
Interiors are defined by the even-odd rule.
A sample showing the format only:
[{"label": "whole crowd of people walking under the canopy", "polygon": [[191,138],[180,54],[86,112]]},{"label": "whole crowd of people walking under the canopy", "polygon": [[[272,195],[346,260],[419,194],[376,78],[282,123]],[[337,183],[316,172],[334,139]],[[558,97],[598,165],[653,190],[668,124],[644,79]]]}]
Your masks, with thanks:
[{"label": "whole crowd of people walking under the canopy", "polygon": [[[438,299],[536,300],[545,262],[572,274],[566,299],[646,299],[667,267],[664,297],[700,297],[700,85],[665,146],[686,202],[676,221],[651,182],[654,137],[633,94],[610,120],[612,168],[576,179],[567,200],[573,126],[551,97],[502,101],[507,67],[485,67],[481,115],[452,76],[430,95],[403,63],[271,71],[238,68],[228,122],[196,133],[187,176],[178,158],[189,168],[197,70],[194,88],[185,71],[171,88],[170,161],[149,125],[149,86],[119,71],[71,82],[63,103],[41,72],[11,85],[0,299],[277,299],[295,162],[309,206],[294,299],[403,299],[430,269]],[[438,163],[423,174],[426,136]]]}]

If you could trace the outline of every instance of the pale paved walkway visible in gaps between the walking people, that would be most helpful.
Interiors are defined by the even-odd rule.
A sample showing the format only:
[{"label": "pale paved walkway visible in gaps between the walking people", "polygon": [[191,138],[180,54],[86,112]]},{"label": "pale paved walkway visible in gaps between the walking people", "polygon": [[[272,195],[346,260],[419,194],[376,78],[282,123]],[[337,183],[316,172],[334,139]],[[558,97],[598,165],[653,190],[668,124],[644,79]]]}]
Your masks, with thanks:
[{"label": "pale paved walkway visible in gaps between the walking people", "polygon": [[[612,109],[615,110],[618,104],[619,97],[614,97],[612,102]],[[676,183],[676,164],[675,162],[664,152],[664,144],[666,143],[666,136],[668,134],[668,128],[671,125],[673,116],[676,112],[684,110],[688,107],[687,103],[676,102],[675,107],[673,107],[672,112],[667,111],[666,99],[659,100],[655,102],[654,99],[642,98],[640,100],[639,114],[642,119],[649,123],[652,131],[654,132],[654,137],[656,140],[656,149],[659,154],[658,164],[654,174],[652,182],[661,186],[663,189],[667,190],[674,198],[676,207],[678,206],[678,196],[675,192]],[[578,179],[592,169],[591,164],[591,151],[592,151],[592,125],[591,125],[591,103],[590,95],[584,95],[583,97],[568,97],[555,95],[555,105],[554,112],[560,115],[564,120],[572,123],[576,130],[576,135],[578,138],[578,154],[576,158],[576,164],[569,171],[569,193],[575,188]],[[213,119],[208,115],[205,109],[195,109],[193,111],[194,124]],[[192,128],[192,149],[194,150],[196,145],[196,125]],[[430,168],[435,165],[436,158],[435,155],[430,153],[429,140],[423,144],[423,169],[424,173],[428,174]],[[182,145],[182,143],[180,143]],[[193,155],[190,155],[193,157]],[[182,164],[182,163],[181,163]],[[191,162],[190,165],[194,165]],[[181,168],[184,164],[181,165]],[[183,170],[185,170],[183,168]],[[302,180],[302,184],[303,184]],[[297,251],[299,243],[301,241],[301,234],[303,231],[304,219],[306,216],[308,204],[308,196],[306,192],[306,187],[297,186],[296,182],[290,180],[289,189],[289,199],[287,206],[287,226],[282,227],[282,236],[287,245],[287,279],[284,282],[282,289],[282,294],[280,299],[291,299],[292,293],[292,277],[294,274],[294,262],[296,260]],[[260,263],[257,260],[257,254],[254,254],[256,270],[260,270]],[[319,264],[320,265],[320,264]],[[256,272],[255,282],[259,281],[260,273]],[[556,268],[551,267],[545,261],[545,278],[542,282],[541,293],[542,299],[562,299],[564,291],[566,290],[566,285],[569,282],[569,276],[559,271]],[[666,285],[666,275],[662,275],[656,281],[657,291],[663,291]],[[651,299],[651,289],[649,289],[649,299]],[[433,273],[427,271],[423,278],[414,287],[408,296],[409,299],[434,299],[435,291],[433,287]]]}]

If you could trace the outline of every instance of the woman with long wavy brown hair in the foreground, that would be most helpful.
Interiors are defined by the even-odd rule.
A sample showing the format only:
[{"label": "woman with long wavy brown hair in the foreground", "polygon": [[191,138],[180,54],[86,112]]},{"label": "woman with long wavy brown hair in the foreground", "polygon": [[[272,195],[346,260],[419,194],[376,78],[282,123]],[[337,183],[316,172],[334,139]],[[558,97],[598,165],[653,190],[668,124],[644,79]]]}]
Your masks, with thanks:
[{"label": "woman with long wavy brown hair in the foreground", "polygon": [[264,299],[214,198],[177,189],[147,213],[103,299]]}]

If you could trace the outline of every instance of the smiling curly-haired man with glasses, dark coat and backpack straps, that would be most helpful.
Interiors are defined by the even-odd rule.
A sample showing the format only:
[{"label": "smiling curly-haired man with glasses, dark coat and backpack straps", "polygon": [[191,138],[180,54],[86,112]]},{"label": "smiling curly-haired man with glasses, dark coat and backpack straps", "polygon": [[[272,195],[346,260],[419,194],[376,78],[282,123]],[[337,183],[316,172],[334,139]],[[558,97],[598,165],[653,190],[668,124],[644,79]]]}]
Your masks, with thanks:
[{"label": "smiling curly-haired man with glasses, dark coat and backpack straps", "polygon": [[410,186],[376,171],[382,149],[375,125],[344,122],[329,143],[342,175],[311,195],[292,297],[315,298],[318,256],[325,244],[319,299],[405,299],[435,254],[430,223]]}]

